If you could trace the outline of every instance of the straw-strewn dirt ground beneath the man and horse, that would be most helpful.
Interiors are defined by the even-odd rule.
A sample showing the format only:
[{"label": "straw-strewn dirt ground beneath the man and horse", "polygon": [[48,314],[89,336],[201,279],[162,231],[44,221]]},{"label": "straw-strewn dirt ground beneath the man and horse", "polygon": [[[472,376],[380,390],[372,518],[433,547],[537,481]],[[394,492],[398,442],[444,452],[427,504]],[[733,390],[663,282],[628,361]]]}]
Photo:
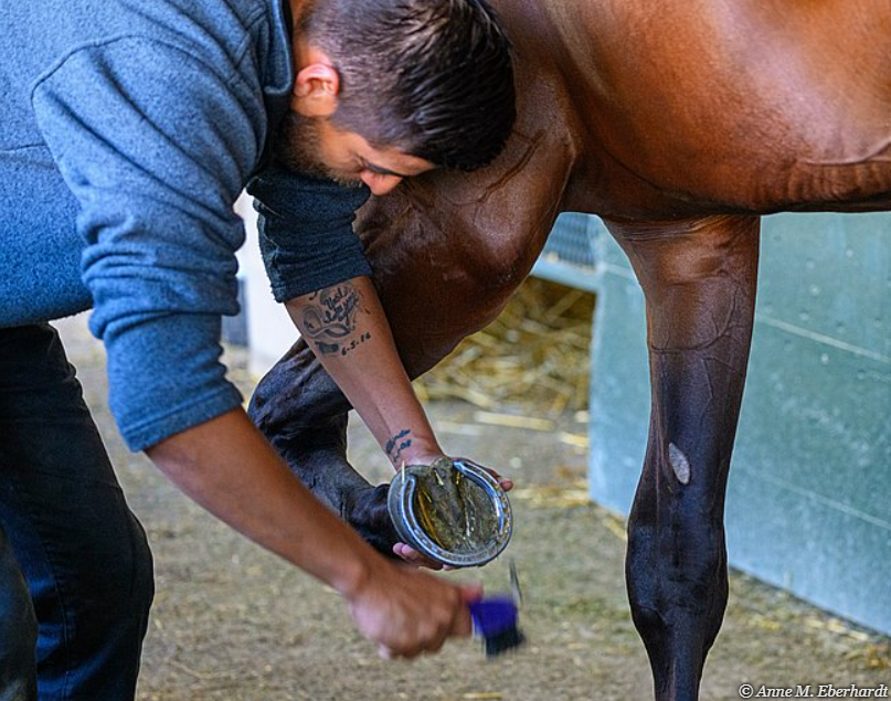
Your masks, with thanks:
[{"label": "straw-strewn dirt ground beneath the man and horse", "polygon": [[[499,468],[517,482],[507,556],[523,584],[529,642],[495,662],[474,641],[411,663],[386,662],[353,630],[332,591],[226,529],[142,455],[127,452],[105,403],[102,348],[83,317],[59,326],[155,552],[157,595],[141,701],[651,698],[625,595],[624,525],[585,497],[585,449],[573,439],[584,436],[585,426],[575,415],[556,417],[556,431],[545,432],[480,424],[460,402],[428,405],[447,452]],[[229,362],[247,395],[253,381],[244,358],[232,352]],[[384,479],[385,461],[369,434],[357,422],[350,431],[353,463],[367,466],[373,481]],[[446,576],[479,580],[495,592],[507,588],[508,567],[496,562]],[[890,642],[734,573],[703,699],[739,699],[744,682],[891,684]]]}]

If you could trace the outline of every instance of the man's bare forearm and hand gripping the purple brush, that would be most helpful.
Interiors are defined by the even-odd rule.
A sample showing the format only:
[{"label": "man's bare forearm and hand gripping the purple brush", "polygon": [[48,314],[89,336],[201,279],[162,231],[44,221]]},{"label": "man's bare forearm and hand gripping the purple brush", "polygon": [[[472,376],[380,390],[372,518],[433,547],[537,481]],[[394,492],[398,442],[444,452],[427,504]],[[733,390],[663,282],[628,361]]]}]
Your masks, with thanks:
[{"label": "man's bare forearm and hand gripping the purple brush", "polygon": [[242,410],[147,450],[185,493],[264,548],[327,582],[349,602],[359,630],[381,652],[413,657],[470,633],[459,587],[397,569],[328,511],[288,471]]}]

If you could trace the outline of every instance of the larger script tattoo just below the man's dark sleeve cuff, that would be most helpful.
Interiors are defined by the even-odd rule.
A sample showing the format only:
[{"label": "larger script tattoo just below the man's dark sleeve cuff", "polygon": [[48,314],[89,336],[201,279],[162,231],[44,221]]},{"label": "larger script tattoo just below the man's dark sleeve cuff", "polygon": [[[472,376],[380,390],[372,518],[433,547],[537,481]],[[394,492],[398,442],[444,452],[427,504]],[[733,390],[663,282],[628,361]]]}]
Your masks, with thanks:
[{"label": "larger script tattoo just below the man's dark sleeve cuff", "polygon": [[346,355],[371,338],[370,333],[363,333],[350,339],[359,323],[361,305],[362,294],[350,282],[315,291],[303,311],[304,333],[322,355]]}]

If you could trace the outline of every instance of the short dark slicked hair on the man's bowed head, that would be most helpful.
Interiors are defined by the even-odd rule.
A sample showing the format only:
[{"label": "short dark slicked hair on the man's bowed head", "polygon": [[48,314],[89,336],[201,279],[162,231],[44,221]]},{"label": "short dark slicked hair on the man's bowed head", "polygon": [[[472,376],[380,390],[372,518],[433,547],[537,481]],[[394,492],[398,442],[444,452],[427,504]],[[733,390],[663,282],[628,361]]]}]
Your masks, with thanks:
[{"label": "short dark slicked hair on the man's bowed head", "polygon": [[317,0],[305,29],[340,75],[338,128],[462,170],[501,151],[511,47],[481,0]]}]

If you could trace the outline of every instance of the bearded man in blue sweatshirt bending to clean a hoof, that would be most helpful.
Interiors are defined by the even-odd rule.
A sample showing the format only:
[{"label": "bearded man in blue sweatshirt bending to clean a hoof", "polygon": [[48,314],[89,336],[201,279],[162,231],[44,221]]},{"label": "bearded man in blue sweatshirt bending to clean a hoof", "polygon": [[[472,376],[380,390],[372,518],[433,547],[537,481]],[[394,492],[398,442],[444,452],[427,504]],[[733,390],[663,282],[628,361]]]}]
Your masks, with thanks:
[{"label": "bearded man in blue sweatshirt bending to clean a hoof", "polygon": [[38,678],[42,699],[134,694],[150,554],[45,323],[91,306],[131,449],[333,586],[382,654],[468,634],[477,590],[392,566],[294,479],[225,381],[219,332],[220,315],[236,310],[232,203],[247,184],[274,293],[394,465],[442,454],[351,221],[365,187],[383,195],[500,150],[512,73],[489,8],[0,10],[0,699],[35,698]]}]

